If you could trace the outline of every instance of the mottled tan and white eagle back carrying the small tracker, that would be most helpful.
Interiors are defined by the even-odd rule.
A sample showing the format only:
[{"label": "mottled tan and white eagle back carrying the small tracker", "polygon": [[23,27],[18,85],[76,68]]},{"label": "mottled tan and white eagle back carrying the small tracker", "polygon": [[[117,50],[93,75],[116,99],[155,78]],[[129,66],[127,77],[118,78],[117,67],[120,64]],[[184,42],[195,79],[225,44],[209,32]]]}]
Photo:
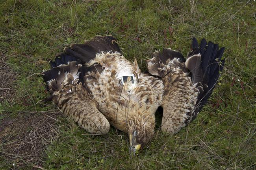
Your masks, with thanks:
[{"label": "mottled tan and white eagle back carrying the small tracker", "polygon": [[[131,117],[151,115],[154,119],[153,114],[161,102],[163,85],[160,80],[141,73],[136,62],[130,63],[118,52],[100,53],[88,66],[96,63],[99,63],[104,71],[89,73],[89,76],[95,76],[95,79],[86,79],[85,84],[98,101],[98,110],[111,125],[127,133],[126,122]],[[128,81],[122,84],[122,76],[127,75],[135,75],[134,83]],[[152,83],[156,86],[152,86]],[[154,96],[158,96],[158,100],[153,100]]]}]

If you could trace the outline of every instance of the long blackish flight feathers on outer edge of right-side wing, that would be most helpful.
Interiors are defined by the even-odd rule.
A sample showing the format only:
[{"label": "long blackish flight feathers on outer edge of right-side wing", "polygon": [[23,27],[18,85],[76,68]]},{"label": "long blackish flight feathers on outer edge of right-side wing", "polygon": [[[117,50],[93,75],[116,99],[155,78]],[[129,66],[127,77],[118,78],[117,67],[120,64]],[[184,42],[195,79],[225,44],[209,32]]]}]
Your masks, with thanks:
[{"label": "long blackish flight feathers on outer edge of right-side wing", "polygon": [[207,103],[225,62],[224,59],[221,60],[225,48],[219,49],[218,44],[207,43],[204,38],[198,47],[198,42],[193,37],[192,48],[193,51],[187,57],[186,67],[191,71],[192,82],[198,83],[199,95],[194,112],[187,113],[192,114],[191,121]]}]

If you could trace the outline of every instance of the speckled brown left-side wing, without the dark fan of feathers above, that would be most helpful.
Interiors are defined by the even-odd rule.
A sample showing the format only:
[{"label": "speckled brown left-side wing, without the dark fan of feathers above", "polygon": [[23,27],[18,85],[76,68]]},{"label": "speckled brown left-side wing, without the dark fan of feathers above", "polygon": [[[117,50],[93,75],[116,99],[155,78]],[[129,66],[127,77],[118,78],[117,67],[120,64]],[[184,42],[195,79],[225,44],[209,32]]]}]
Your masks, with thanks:
[{"label": "speckled brown left-side wing, without the dark fan of feathers above", "polygon": [[91,94],[79,82],[81,65],[76,61],[43,72],[52,100],[59,110],[90,133],[105,134],[109,131],[108,120],[97,109]]}]

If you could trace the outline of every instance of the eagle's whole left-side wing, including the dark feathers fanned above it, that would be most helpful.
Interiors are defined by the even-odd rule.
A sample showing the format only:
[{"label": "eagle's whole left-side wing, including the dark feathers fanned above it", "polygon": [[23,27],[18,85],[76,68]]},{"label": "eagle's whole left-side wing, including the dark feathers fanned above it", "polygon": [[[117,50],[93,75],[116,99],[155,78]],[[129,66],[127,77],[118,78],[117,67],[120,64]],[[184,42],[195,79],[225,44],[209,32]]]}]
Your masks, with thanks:
[{"label": "eagle's whole left-side wing, including the dark feathers fanned above it", "polygon": [[91,133],[105,134],[109,122],[98,111],[98,104],[87,89],[85,80],[94,81],[104,68],[98,63],[85,66],[101,51],[120,51],[112,36],[97,36],[85,44],[72,44],[50,62],[51,69],[43,72],[46,88],[62,113],[74,119],[83,129]]}]

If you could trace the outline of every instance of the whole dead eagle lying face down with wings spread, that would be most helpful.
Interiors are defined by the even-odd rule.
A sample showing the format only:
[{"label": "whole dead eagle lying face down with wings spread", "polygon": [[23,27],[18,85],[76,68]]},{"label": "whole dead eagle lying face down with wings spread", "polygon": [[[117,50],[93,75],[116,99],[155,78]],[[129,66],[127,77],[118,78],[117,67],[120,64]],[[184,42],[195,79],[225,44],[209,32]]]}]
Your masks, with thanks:
[{"label": "whole dead eagle lying face down with wings spread", "polygon": [[115,38],[97,36],[65,48],[43,72],[59,110],[90,133],[109,124],[128,133],[136,152],[154,135],[154,113],[163,108],[162,132],[177,133],[206,104],[224,66],[224,48],[195,38],[187,60],[178,51],[156,51],[148,73],[122,56]]}]

